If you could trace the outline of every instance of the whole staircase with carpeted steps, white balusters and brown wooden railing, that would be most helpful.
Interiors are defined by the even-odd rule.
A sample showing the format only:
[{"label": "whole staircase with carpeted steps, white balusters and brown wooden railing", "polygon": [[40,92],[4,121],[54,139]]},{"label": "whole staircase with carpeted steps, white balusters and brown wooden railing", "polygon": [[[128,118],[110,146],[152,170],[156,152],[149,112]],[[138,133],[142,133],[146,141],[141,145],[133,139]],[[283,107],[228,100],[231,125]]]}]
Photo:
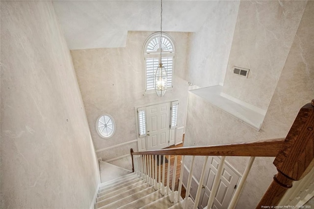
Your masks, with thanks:
[{"label": "whole staircase with carpeted steps, white balusters and brown wooden railing", "polygon": [[[174,157],[171,181],[170,161],[167,163],[168,169],[166,175],[166,156],[168,159]],[[193,168],[194,164],[196,164],[194,163],[195,156],[203,156],[204,163],[201,176],[197,180],[199,183],[196,195],[192,196],[194,203],[189,195]],[[256,206],[256,209],[261,209],[264,206],[288,206],[289,203],[291,203],[290,197],[295,197],[294,193],[298,191],[290,189],[292,194],[287,192],[287,190],[289,191],[289,188],[292,187],[292,182],[303,179],[300,183],[300,185],[303,185],[313,181],[314,100],[312,100],[312,103],[306,104],[300,109],[286,138],[145,152],[133,152],[131,149],[133,173],[120,176],[116,179],[108,179],[104,183],[101,183],[95,209],[197,209],[209,156],[221,156],[221,159],[216,175],[213,178],[207,206],[205,206],[206,209],[217,208],[215,207],[214,199],[220,184],[226,156],[250,157],[242,178],[235,188],[228,209],[235,208],[255,157],[275,157],[273,164],[278,171]],[[182,160],[178,160],[178,157],[182,157]],[[186,161],[190,161],[190,168],[185,185],[185,197],[183,199],[181,197],[181,189],[183,185],[183,167],[185,166],[184,159],[186,157]],[[180,177],[178,177],[178,191],[175,191],[178,161],[180,161],[182,166],[180,166]],[[312,170],[313,173],[311,172]],[[165,180],[165,178],[167,179]],[[172,185],[170,185],[170,182],[172,182]],[[296,186],[296,188],[298,188],[298,186]],[[310,187],[306,188],[307,193],[310,193],[309,189]]]}]

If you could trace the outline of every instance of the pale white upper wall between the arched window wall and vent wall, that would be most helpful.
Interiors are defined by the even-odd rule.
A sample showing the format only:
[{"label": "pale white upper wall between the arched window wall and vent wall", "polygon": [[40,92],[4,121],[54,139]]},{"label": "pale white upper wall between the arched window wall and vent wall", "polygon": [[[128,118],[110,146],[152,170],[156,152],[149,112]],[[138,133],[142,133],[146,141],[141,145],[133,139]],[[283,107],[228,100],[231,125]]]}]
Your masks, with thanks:
[{"label": "pale white upper wall between the arched window wall and vent wall", "polygon": [[224,81],[240,1],[210,1],[208,18],[190,41],[188,81],[207,87]]}]

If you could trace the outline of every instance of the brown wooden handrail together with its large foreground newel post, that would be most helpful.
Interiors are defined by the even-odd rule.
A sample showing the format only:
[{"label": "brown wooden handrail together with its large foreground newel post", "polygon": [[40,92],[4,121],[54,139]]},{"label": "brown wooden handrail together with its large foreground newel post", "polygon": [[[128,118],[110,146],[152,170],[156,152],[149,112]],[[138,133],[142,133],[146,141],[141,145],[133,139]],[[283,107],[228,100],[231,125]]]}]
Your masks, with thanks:
[{"label": "brown wooden handrail together with its large foreground newel post", "polygon": [[132,157],[133,155],[276,157],[273,163],[278,173],[256,209],[274,207],[292,187],[293,181],[302,179],[314,168],[314,100],[300,109],[286,138],[145,152],[132,151]]}]

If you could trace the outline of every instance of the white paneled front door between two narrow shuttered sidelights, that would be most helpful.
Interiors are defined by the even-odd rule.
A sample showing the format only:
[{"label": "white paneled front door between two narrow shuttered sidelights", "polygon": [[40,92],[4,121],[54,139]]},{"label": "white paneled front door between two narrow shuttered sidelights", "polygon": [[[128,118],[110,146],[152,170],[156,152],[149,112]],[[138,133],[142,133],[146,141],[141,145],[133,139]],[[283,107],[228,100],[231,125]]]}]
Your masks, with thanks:
[{"label": "white paneled front door between two narrow shuttered sidelights", "polygon": [[169,146],[170,103],[146,107],[147,149],[158,150]]}]

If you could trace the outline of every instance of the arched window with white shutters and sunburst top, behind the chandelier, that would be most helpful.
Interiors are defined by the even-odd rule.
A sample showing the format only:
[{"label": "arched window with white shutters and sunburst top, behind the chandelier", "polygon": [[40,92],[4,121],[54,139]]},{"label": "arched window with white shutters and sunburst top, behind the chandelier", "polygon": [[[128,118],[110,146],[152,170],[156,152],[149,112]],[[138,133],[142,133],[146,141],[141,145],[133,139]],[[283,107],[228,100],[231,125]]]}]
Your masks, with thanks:
[{"label": "arched window with white shutters and sunburst top, behind the chandelier", "polygon": [[[174,45],[171,37],[162,33],[161,36],[161,62],[167,71],[168,90],[173,87],[174,69]],[[160,63],[160,32],[152,34],[147,38],[144,49],[144,93],[155,93],[154,75]]]}]

